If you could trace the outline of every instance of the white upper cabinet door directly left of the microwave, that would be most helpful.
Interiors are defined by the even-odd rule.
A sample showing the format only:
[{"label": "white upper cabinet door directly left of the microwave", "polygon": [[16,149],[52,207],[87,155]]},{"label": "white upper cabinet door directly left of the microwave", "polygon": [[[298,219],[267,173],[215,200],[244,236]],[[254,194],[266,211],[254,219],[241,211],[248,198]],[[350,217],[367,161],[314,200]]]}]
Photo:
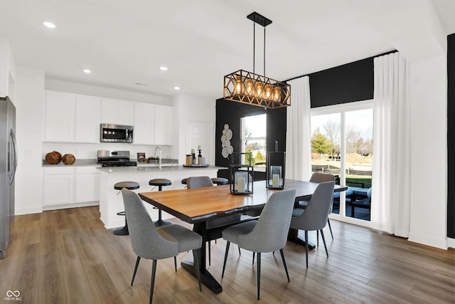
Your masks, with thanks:
[{"label": "white upper cabinet door directly left of the microwave", "polygon": [[100,142],[101,98],[76,95],[75,142]]}]

